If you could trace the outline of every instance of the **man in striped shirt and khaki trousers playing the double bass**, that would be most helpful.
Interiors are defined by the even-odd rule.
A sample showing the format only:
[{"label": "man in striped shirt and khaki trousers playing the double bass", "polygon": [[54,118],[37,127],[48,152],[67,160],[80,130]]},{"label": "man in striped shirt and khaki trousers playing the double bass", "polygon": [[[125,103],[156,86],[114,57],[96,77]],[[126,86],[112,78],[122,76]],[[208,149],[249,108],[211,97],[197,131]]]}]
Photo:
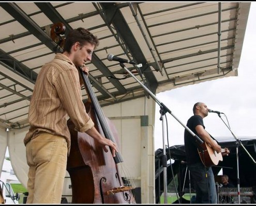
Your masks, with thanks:
[{"label": "man in striped shirt and khaki trousers playing the double bass", "polygon": [[115,143],[96,130],[86,113],[77,69],[84,66],[82,70],[88,74],[84,63],[92,60],[98,44],[87,29],[73,29],[65,39],[63,54],[56,54],[38,74],[28,111],[30,127],[24,138],[29,166],[26,203],[61,203],[70,152],[68,116],[77,131],[92,136],[105,152],[110,146],[115,157]]}]

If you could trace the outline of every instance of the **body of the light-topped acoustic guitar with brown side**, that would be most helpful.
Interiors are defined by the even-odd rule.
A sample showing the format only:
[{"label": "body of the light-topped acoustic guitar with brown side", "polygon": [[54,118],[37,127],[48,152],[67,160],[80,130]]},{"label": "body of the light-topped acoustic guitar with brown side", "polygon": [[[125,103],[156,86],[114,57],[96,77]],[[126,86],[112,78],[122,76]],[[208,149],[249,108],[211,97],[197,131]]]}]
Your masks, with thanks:
[{"label": "body of the light-topped acoustic guitar with brown side", "polygon": [[223,161],[221,152],[217,153],[211,146],[209,146],[206,142],[201,144],[203,151],[198,149],[198,153],[202,163],[206,167],[211,167],[214,165],[218,165],[219,161]]}]

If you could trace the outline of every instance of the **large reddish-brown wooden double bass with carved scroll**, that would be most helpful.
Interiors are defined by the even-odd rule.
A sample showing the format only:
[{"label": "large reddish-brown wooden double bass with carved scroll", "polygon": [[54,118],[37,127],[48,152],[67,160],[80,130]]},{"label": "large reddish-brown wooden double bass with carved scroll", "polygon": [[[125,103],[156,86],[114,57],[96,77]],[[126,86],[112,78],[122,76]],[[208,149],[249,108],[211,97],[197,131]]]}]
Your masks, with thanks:
[{"label": "large reddish-brown wooden double bass with carved scroll", "polygon": [[[64,45],[65,39],[60,36],[64,31],[65,25],[62,23],[51,27],[51,38],[57,45]],[[116,143],[116,128],[104,116],[88,77],[81,68],[78,68],[78,71],[88,95],[88,100],[84,104],[86,112],[99,133]],[[119,172],[119,165],[124,164],[121,154],[116,152],[113,158],[111,151],[103,151],[91,136],[74,130],[75,126],[70,119],[67,125],[71,135],[67,171],[71,179],[72,203],[135,203],[132,194],[135,187],[127,178],[121,177]]]}]

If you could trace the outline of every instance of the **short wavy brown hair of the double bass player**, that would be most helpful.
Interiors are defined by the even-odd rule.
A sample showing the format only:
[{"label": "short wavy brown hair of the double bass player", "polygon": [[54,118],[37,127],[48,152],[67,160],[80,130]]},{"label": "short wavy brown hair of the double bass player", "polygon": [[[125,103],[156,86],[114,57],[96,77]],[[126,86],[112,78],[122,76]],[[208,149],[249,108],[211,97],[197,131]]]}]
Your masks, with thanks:
[{"label": "short wavy brown hair of the double bass player", "polygon": [[79,27],[77,29],[71,30],[66,39],[63,47],[63,52],[70,53],[71,47],[74,43],[80,42],[81,45],[84,45],[86,42],[94,44],[95,47],[99,45],[99,40],[94,36],[89,30]]}]

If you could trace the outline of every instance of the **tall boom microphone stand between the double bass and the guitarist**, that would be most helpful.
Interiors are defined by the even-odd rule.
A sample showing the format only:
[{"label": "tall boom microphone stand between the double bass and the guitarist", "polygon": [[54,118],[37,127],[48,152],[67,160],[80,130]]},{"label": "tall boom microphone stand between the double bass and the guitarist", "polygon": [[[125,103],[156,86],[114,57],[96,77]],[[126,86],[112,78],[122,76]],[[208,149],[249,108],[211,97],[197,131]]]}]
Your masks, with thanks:
[{"label": "tall boom microphone stand between the double bass and the guitarist", "polygon": [[[179,119],[169,110],[157,97],[144,85],[140,82],[139,79],[137,79],[131,72],[126,68],[126,66],[120,62],[120,65],[142,86],[142,88],[157,102],[157,104],[160,106],[161,110],[161,117],[166,112],[169,112],[178,122],[181,124],[195,139],[197,139],[198,143],[201,145],[203,141],[195,134],[193,133],[186,125],[184,125],[182,122],[179,121]],[[136,65],[138,67],[138,65]],[[161,118],[160,118],[161,119]],[[163,124],[162,124],[163,125]],[[163,135],[163,191],[164,191],[164,203],[167,203],[167,156],[165,155],[165,147],[164,147],[164,135]],[[159,197],[160,199],[160,197]]]}]

